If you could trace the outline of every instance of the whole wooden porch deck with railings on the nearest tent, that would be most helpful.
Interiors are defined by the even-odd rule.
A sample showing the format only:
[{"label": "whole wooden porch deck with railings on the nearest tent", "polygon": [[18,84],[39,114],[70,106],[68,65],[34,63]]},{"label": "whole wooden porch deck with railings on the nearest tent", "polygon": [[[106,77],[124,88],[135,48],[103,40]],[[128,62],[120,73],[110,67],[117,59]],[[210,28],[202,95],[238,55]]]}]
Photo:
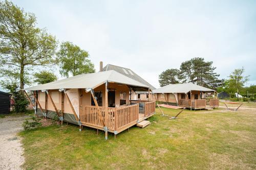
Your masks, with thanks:
[{"label": "whole wooden porch deck with railings on the nearest tent", "polygon": [[[106,109],[105,107],[99,107],[99,111],[97,110],[96,106],[82,105],[80,106],[80,122],[82,126],[100,130],[104,130],[104,127],[107,127],[108,132],[118,134],[123,130],[143,121],[144,119],[151,117],[155,113],[155,102],[143,103],[144,113],[139,113],[139,102],[137,104],[115,108],[108,107]],[[108,114],[106,115],[105,110],[108,110]]]}]

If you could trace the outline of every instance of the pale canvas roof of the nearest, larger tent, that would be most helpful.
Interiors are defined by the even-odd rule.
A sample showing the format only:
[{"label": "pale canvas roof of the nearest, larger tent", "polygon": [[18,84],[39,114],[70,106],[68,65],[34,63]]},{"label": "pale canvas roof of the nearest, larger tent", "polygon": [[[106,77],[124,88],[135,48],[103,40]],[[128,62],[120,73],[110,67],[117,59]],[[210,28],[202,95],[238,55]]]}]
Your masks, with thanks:
[{"label": "pale canvas roof of the nearest, larger tent", "polygon": [[115,82],[119,84],[126,84],[135,87],[148,86],[137,82],[129,77],[126,77],[115,70],[95,72],[92,74],[82,74],[74,77],[58,80],[51,83],[46,83],[38,86],[25,88],[23,90],[51,90],[51,89],[69,89],[69,88],[95,88],[98,85],[108,82]]}]

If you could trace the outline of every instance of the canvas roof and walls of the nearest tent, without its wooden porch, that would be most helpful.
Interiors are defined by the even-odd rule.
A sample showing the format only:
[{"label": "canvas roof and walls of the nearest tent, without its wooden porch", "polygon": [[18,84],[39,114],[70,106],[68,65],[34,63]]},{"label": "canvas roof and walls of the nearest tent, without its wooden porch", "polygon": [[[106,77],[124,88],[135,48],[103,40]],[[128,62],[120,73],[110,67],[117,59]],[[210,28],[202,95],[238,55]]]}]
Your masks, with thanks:
[{"label": "canvas roof and walls of the nearest tent, without its wooden porch", "polygon": [[[148,86],[137,82],[129,77],[123,76],[114,70],[96,72],[93,74],[83,74],[74,76],[71,78],[58,80],[55,82],[42,84],[24,90],[37,91],[38,101],[41,105],[42,111],[47,113],[47,117],[53,117],[56,115],[54,105],[57,110],[62,110],[64,115],[63,119],[65,122],[70,122],[73,124],[78,124],[72,108],[70,107],[68,98],[70,99],[72,106],[76,112],[76,115],[79,117],[79,106],[80,105],[91,105],[91,94],[86,93],[85,89],[93,89],[96,91],[104,91],[105,84],[108,82],[109,89],[116,89],[116,103],[120,104],[119,96],[120,92],[126,92],[129,94],[129,89],[144,89],[148,90]],[[68,98],[63,95],[63,92],[60,92],[59,89],[66,89]],[[47,99],[46,91],[48,90],[51,100]],[[103,93],[104,95],[104,93]],[[104,96],[102,96],[102,106],[104,106]],[[129,101],[129,95],[126,95],[127,102]],[[46,102],[47,101],[47,102]],[[46,109],[47,108],[47,109]],[[47,112],[46,112],[47,110]],[[41,109],[37,107],[38,115],[42,116]]]}]

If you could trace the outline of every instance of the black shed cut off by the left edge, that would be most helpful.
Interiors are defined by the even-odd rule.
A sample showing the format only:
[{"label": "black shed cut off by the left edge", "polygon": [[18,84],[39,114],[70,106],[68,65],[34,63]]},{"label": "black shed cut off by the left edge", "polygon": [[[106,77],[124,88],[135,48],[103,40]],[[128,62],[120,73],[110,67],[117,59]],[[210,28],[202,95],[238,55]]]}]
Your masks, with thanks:
[{"label": "black shed cut off by the left edge", "polygon": [[10,93],[0,91],[0,114],[10,113],[11,95]]}]

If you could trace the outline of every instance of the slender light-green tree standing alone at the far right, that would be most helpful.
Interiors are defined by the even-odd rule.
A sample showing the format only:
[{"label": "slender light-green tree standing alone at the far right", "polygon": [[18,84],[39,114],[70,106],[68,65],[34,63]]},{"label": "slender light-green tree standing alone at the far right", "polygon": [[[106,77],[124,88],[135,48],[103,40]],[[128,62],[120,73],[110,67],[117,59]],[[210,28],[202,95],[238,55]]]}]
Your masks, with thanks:
[{"label": "slender light-green tree standing alone at the far right", "polygon": [[233,72],[228,76],[229,77],[229,88],[236,89],[233,92],[239,92],[243,89],[244,84],[249,81],[249,76],[243,76],[244,67],[241,69],[234,69]]}]

